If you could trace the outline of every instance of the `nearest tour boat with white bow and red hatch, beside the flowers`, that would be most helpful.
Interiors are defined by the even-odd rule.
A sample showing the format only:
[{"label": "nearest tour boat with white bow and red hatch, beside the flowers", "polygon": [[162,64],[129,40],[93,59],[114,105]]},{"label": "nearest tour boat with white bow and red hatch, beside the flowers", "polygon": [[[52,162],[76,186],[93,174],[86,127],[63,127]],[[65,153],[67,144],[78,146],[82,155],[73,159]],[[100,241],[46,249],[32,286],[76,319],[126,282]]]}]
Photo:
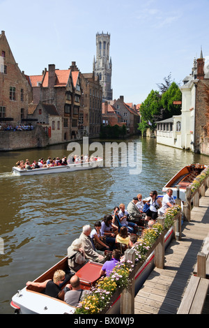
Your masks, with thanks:
[{"label": "nearest tour boat with white bow and red hatch, beside the flowers", "polygon": [[[173,227],[164,236],[164,246],[167,248],[171,239],[173,238]],[[150,253],[147,260],[139,268],[135,275],[135,295],[139,292],[144,281],[153,270],[155,258],[155,251]],[[95,285],[96,281],[100,278],[100,269],[102,264],[98,262],[87,262],[82,269],[77,271],[82,289],[90,290],[91,286]],[[62,269],[68,271],[68,257],[63,258],[53,267],[51,267],[44,274],[36,278],[35,282],[43,282],[47,279],[52,279],[54,271]],[[114,304],[109,308],[108,314],[120,313],[121,296],[119,296]],[[15,308],[15,313],[20,314],[73,314],[75,312],[74,306],[69,306],[65,301],[49,297],[44,294],[44,290],[34,286],[24,287],[12,297],[10,306]]]}]

